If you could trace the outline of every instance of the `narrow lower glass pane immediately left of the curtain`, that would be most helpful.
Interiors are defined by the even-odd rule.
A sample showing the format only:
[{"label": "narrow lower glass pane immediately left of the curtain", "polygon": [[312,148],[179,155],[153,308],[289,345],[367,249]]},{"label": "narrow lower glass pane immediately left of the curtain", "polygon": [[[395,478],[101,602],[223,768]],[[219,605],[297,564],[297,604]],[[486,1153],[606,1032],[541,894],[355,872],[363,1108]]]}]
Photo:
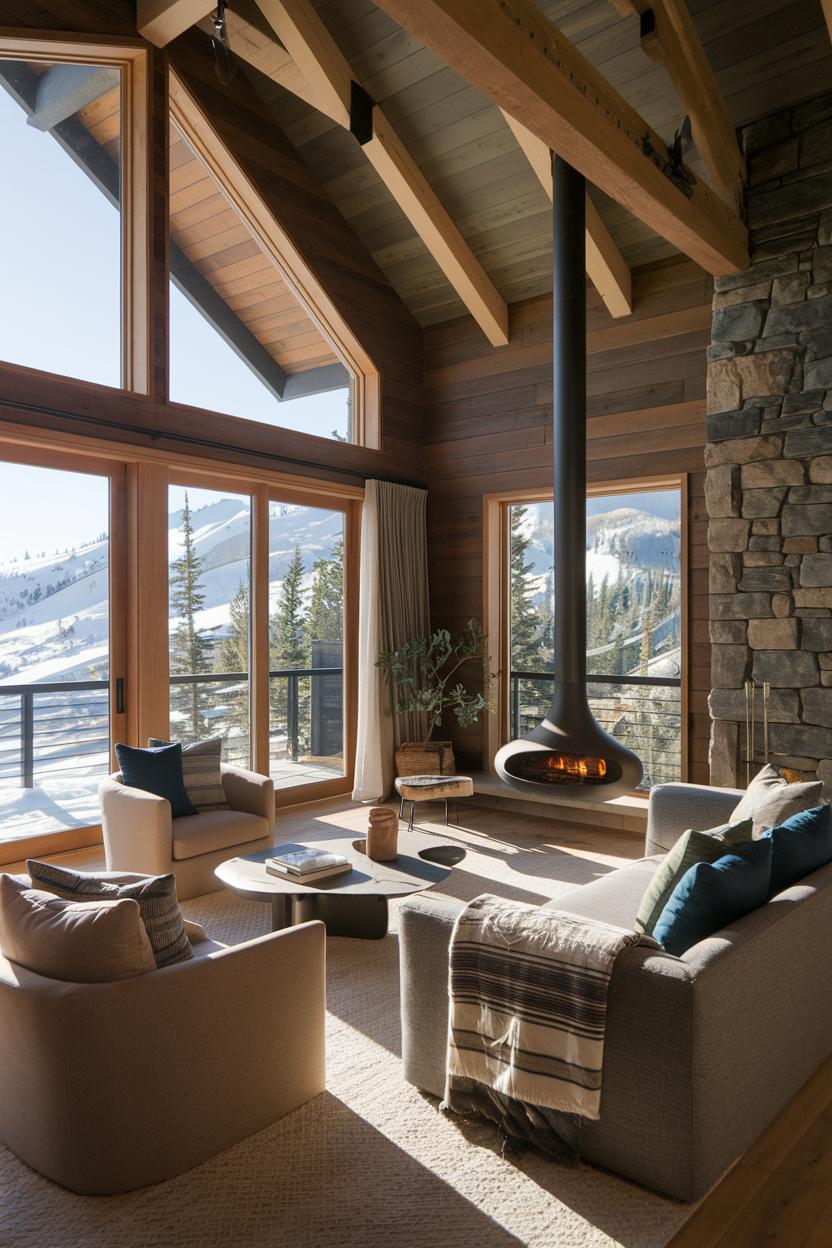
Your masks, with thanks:
[{"label": "narrow lower glass pane immediately left of the curtain", "polygon": [[277,787],[344,774],[344,513],[272,502],[269,768]]}]

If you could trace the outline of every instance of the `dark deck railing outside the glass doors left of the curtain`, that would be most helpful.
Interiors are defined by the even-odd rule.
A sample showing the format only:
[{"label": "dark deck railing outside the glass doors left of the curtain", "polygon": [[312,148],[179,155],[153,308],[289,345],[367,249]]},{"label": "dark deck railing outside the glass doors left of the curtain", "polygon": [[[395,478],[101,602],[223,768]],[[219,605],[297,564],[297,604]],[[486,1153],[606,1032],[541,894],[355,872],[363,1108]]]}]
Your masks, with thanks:
[{"label": "dark deck railing outside the glass doors left of the curtain", "polygon": [[[329,691],[329,705],[324,708],[321,700],[316,705],[324,708],[321,715],[333,725],[329,738],[334,740],[334,724],[341,723],[342,676],[343,668],[334,666],[276,668],[269,671],[269,686],[277,690],[277,696],[272,698],[269,735],[279,754],[298,761],[306,735],[312,735],[311,720],[318,691],[322,696]],[[281,681],[286,683],[283,689]],[[314,681],[322,681],[318,689]],[[227,706],[244,691],[248,675],[244,671],[171,675],[173,686],[192,684],[212,689],[216,698],[208,710],[217,720],[217,729],[223,730]],[[225,686],[221,691],[220,685]],[[337,735],[341,735],[339,729]],[[284,750],[282,743],[286,743]],[[228,734],[226,754],[228,761],[247,761],[247,733]],[[44,780],[77,776],[79,771],[87,776],[106,775],[109,769],[107,680],[0,685],[0,785],[32,789]]]}]

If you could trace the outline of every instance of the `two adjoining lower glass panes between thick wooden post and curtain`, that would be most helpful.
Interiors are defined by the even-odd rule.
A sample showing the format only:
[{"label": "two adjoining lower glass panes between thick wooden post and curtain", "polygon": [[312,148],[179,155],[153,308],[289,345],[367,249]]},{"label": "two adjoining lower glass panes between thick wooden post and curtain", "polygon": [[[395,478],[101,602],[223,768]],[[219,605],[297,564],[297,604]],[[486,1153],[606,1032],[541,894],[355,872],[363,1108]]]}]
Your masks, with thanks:
[{"label": "two adjoining lower glass panes between thick wooden post and curtain", "polygon": [[221,736],[278,790],[343,787],[351,513],[262,502],[168,488],[170,738]]}]

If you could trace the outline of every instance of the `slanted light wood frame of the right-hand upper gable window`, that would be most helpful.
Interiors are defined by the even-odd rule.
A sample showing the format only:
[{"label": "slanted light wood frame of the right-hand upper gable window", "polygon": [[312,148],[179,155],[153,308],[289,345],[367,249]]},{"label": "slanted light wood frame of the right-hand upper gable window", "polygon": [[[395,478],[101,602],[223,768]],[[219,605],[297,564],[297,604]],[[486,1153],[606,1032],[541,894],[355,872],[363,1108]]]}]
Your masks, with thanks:
[{"label": "slanted light wood frame of the right-hand upper gable window", "polygon": [[[202,111],[183,80],[172,67],[168,70],[168,107],[170,120],[182,132],[197,158],[202,161],[222,193],[252,232],[256,242],[272,261],[288,290],[351,373],[351,444],[379,451],[382,429],[378,368],[303,256],[274,218],[268,205],[228,151],[211,119]],[[166,369],[166,374],[168,372],[170,369]],[[191,406],[186,403],[170,403],[170,406],[192,411]],[[228,414],[227,418],[239,419],[239,417]]]}]

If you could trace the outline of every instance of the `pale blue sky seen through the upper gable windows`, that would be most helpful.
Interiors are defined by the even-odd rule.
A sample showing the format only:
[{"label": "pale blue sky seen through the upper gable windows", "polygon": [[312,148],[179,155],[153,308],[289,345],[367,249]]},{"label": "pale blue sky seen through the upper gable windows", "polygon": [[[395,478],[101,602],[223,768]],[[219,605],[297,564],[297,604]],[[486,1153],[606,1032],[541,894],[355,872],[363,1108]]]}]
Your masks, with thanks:
[{"label": "pale blue sky seen through the upper gable windows", "polygon": [[[119,212],[4,90],[0,135],[0,358],[117,386]],[[346,392],[278,403],[175,290],[171,397],[322,437],[344,432]]]}]

